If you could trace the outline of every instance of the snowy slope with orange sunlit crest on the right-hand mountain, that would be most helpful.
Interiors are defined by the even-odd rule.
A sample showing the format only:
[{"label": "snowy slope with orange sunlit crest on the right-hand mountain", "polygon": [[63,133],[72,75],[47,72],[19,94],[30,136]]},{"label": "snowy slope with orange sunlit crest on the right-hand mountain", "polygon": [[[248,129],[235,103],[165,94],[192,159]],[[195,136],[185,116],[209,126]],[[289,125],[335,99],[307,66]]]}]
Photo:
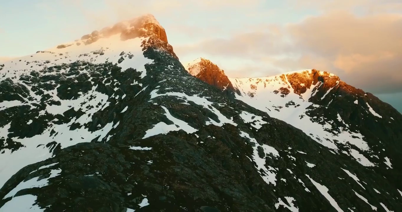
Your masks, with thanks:
[{"label": "snowy slope with orange sunlit crest on the right-hand mountain", "polygon": [[[335,91],[345,85],[336,75],[310,69],[269,77],[230,78],[230,81],[242,93],[236,98],[303,130],[334,154],[351,156],[364,166],[386,164],[392,168],[388,157],[379,157],[384,150],[373,150],[359,129],[343,120],[339,114],[342,111],[333,113],[328,110],[326,114],[314,114],[314,108],[328,108],[339,95]],[[362,107],[372,119],[382,118],[368,102],[357,104],[367,94],[353,95],[356,107]],[[395,122],[392,117],[384,116],[384,119]]]}]

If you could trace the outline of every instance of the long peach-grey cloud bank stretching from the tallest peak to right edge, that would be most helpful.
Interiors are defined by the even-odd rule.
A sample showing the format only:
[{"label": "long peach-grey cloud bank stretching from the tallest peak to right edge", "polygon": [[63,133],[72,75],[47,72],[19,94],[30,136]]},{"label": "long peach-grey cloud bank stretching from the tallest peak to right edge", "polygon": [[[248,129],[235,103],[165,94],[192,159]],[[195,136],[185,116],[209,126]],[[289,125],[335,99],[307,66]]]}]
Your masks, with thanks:
[{"label": "long peach-grey cloud bank stretching from the tallest peak to right edge", "polygon": [[299,23],[261,26],[257,31],[227,39],[207,39],[176,50],[179,56],[198,51],[212,57],[226,55],[265,61],[274,64],[277,72],[321,69],[368,92],[389,93],[402,91],[400,35],[401,14],[357,16],[336,10]]}]

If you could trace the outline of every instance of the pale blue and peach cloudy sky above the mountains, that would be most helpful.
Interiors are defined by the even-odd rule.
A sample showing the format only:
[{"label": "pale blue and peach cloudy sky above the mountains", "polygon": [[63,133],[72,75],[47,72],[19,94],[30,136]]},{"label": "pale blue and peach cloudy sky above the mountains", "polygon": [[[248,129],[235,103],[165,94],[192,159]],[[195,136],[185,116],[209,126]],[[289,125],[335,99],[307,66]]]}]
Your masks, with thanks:
[{"label": "pale blue and peach cloudy sky above the mountains", "polygon": [[153,14],[183,63],[229,77],[328,71],[402,111],[400,0],[13,0],[0,2],[0,61]]}]

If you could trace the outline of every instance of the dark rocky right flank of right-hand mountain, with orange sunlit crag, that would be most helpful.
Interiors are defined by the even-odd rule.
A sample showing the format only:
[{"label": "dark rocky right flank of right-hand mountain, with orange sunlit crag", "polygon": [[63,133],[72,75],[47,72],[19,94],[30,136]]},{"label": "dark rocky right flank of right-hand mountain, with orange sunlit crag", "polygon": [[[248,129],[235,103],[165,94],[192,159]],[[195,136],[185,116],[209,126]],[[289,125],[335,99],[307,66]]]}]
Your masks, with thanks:
[{"label": "dark rocky right flank of right-hand mountain, with orange sunlit crag", "polygon": [[[326,72],[320,74],[315,69],[312,71],[310,80],[304,78],[305,76],[305,74],[293,73],[287,78],[295,93],[304,89],[297,87],[300,83],[322,84],[316,89],[316,95],[309,100],[321,106],[312,108],[310,111],[312,118],[322,117],[324,120],[336,121],[336,114],[339,114],[345,124],[348,124],[348,128],[352,132],[361,133],[370,146],[375,147],[377,143],[384,141],[381,142],[381,146],[386,147],[385,155],[393,158],[395,175],[402,177],[399,171],[402,170],[402,163],[398,162],[402,160],[402,142],[400,142],[402,141],[402,115],[390,104],[382,102],[373,94],[346,84],[337,76],[330,76]],[[386,175],[384,171],[381,173]],[[395,183],[402,186],[400,181]]]}]

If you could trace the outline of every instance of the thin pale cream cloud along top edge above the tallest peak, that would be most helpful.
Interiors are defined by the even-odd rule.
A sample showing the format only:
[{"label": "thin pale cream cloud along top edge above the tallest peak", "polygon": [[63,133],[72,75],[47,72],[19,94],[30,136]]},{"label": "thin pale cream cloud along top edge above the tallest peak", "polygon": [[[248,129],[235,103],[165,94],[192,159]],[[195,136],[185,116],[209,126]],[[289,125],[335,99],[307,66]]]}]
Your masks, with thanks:
[{"label": "thin pale cream cloud along top edge above the tallest peak", "polygon": [[[74,5],[96,28],[103,28],[117,21],[127,20],[142,14],[153,14],[158,20],[169,19],[184,22],[193,13],[221,11],[222,8],[254,8],[263,0],[62,0],[65,6]],[[47,4],[51,4],[47,2]],[[96,7],[90,4],[96,4]],[[100,6],[101,5],[101,6]],[[105,25],[106,24],[106,25]]]}]

